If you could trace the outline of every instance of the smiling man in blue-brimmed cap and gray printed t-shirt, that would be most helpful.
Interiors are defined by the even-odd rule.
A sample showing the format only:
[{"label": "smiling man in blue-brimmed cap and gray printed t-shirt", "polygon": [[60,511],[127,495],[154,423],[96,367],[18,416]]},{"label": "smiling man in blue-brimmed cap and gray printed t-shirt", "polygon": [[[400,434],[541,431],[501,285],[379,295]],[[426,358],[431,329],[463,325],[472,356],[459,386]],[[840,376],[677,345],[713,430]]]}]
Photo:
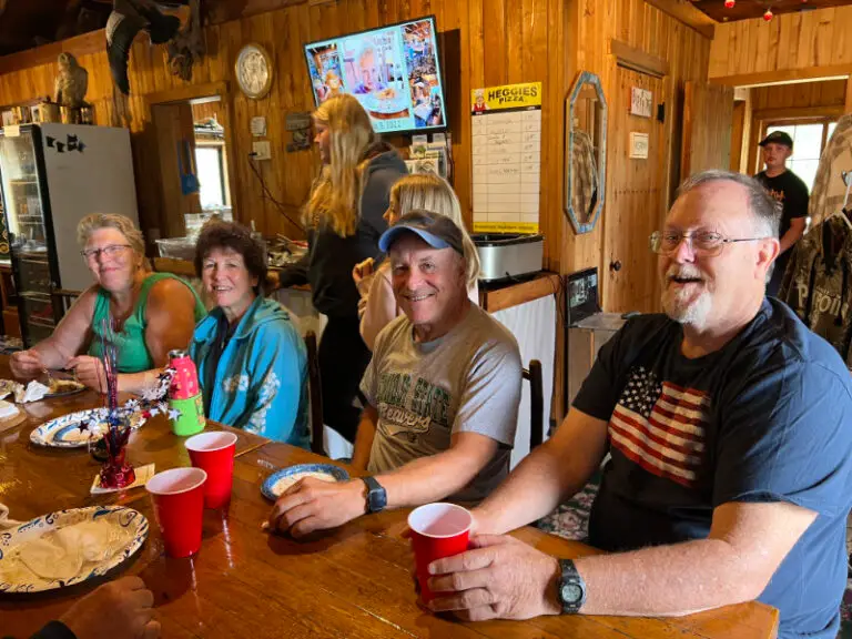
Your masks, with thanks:
[{"label": "smiling man in blue-brimmed cap and gray printed t-shirt", "polygon": [[378,241],[403,315],[376,337],[352,465],[368,476],[305,478],[270,527],[302,537],[365,513],[452,499],[478,503],[508,474],[521,364],[509,331],[467,295],[462,231],[413,211]]}]

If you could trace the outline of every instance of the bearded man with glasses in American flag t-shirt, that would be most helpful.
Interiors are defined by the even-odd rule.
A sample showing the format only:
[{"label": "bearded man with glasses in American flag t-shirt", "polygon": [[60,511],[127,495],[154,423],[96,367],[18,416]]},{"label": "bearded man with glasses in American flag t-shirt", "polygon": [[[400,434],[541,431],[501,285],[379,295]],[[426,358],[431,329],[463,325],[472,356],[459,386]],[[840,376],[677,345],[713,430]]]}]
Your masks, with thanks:
[{"label": "bearded man with glasses in American flag t-shirt", "polygon": [[[434,561],[435,611],[679,616],[758,599],[780,639],[834,639],[852,507],[852,379],[765,297],[778,210],[746,175],[681,186],[651,236],[666,314],[601,349],[567,418],[478,508],[468,550]],[[507,532],[611,457],[589,542],[557,560]]]}]

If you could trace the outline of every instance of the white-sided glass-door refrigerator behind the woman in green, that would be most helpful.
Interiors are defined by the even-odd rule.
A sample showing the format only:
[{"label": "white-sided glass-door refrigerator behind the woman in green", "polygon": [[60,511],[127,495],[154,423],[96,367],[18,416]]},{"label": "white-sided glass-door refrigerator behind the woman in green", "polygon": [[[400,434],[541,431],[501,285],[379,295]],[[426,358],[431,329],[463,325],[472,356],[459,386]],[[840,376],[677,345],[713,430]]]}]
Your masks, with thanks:
[{"label": "white-sided glass-door refrigerator behind the woman in green", "polygon": [[130,131],[79,124],[2,129],[0,196],[21,334],[31,346],[53,332],[63,300],[92,284],[77,223],[90,213],[120,213],[139,225]]}]

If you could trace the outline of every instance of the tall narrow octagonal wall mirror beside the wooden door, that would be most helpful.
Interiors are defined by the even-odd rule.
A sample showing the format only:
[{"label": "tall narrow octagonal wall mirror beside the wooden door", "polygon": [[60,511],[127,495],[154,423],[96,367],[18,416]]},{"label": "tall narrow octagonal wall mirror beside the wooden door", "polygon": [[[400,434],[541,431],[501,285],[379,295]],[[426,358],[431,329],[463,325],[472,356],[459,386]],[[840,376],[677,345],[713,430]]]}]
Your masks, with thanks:
[{"label": "tall narrow octagonal wall mirror beside the wooden door", "polygon": [[565,108],[565,212],[577,233],[589,233],[604,210],[607,101],[600,78],[580,71]]}]

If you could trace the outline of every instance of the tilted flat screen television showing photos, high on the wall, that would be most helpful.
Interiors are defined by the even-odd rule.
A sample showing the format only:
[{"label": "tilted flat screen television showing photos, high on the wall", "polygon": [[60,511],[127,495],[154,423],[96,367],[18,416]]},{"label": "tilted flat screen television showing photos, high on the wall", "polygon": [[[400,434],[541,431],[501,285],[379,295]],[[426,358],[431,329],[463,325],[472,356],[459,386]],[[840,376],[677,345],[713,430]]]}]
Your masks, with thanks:
[{"label": "tilted flat screen television showing photos, high on the wall", "polygon": [[447,126],[433,16],[305,44],[317,105],[349,93],[377,133]]}]

